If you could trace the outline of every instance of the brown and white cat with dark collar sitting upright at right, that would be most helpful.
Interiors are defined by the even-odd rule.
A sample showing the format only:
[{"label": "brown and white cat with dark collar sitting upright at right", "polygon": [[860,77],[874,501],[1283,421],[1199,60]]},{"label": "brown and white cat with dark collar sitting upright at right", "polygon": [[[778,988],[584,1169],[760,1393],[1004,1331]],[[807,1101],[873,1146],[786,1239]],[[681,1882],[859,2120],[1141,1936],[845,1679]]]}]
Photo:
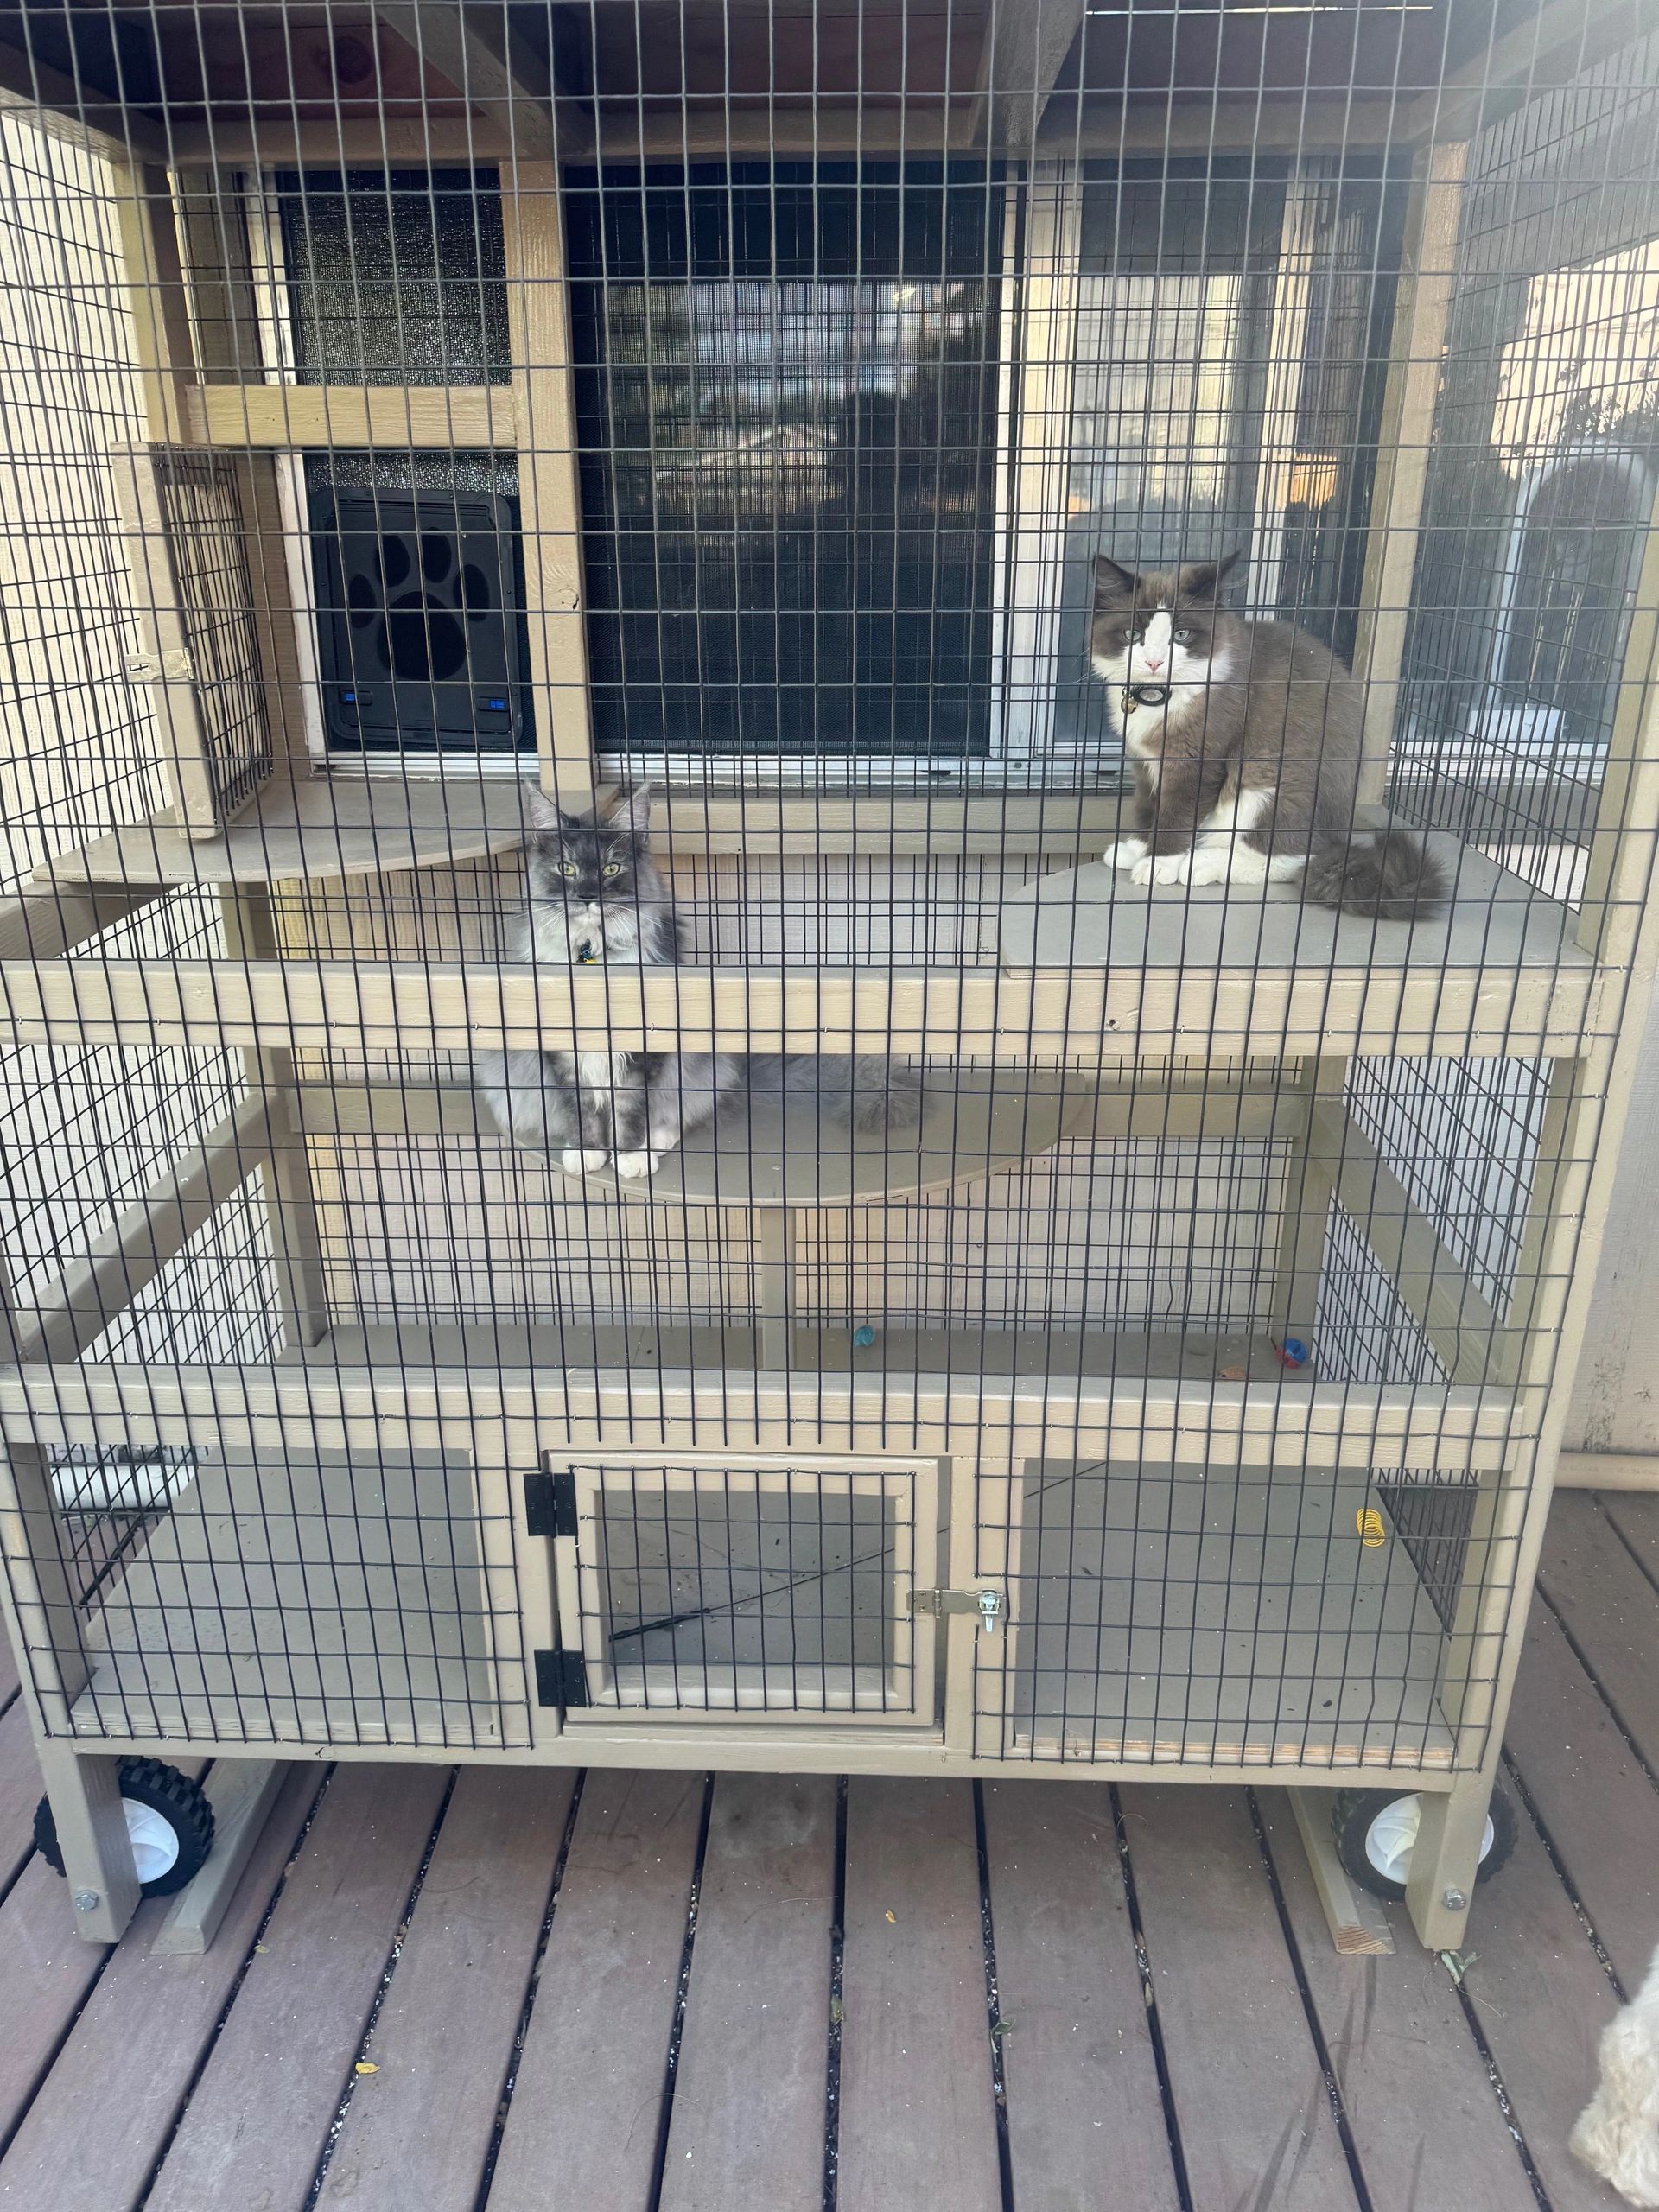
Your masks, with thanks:
[{"label": "brown and white cat with dark collar sitting upright at right", "polygon": [[1371,920],[1433,914],[1444,876],[1400,830],[1354,827],[1365,695],[1318,639],[1221,604],[1239,560],[1095,562],[1091,661],[1135,765],[1135,883],[1298,883]]}]

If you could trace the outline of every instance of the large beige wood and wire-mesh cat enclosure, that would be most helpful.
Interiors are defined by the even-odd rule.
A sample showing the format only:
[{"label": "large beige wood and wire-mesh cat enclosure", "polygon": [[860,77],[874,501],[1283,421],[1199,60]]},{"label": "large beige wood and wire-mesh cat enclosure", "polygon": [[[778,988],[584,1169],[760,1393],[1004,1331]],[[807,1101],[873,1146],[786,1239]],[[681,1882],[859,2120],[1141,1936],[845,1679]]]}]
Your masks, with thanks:
[{"label": "large beige wood and wire-mesh cat enclosure", "polygon": [[[1274,1767],[1460,1938],[1655,958],[1628,0],[0,7],[0,1537],[117,1761]],[[1137,885],[1239,553],[1449,907]],[[679,962],[524,958],[653,794]],[[653,1177],[491,1051],[743,1082]]]}]

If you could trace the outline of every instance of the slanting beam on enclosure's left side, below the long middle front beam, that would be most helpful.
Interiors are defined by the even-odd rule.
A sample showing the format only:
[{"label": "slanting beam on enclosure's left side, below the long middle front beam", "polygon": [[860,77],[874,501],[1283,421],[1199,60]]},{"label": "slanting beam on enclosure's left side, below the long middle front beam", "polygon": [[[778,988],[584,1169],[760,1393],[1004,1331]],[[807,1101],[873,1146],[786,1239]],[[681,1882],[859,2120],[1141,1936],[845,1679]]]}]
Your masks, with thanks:
[{"label": "slanting beam on enclosure's left side, below the long middle front beam", "polygon": [[263,1097],[250,1099],[184,1152],[86,1254],[15,1305],[11,1360],[75,1360],[95,1343],[201,1223],[270,1159]]}]

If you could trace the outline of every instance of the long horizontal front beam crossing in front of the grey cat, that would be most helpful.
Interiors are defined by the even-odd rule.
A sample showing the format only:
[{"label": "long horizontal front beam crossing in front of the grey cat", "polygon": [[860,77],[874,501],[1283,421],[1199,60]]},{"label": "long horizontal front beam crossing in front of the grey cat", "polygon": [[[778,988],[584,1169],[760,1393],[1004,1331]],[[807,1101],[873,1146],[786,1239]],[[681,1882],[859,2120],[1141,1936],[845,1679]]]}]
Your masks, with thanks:
[{"label": "long horizontal front beam crossing in front of the grey cat", "polygon": [[[1619,982],[1619,978],[1613,978]],[[1608,1020],[1593,969],[533,969],[420,960],[0,962],[24,1044],[345,1051],[945,1053],[982,1066],[1126,1057],[1568,1057]],[[1617,1006],[1617,998],[1615,998]]]}]

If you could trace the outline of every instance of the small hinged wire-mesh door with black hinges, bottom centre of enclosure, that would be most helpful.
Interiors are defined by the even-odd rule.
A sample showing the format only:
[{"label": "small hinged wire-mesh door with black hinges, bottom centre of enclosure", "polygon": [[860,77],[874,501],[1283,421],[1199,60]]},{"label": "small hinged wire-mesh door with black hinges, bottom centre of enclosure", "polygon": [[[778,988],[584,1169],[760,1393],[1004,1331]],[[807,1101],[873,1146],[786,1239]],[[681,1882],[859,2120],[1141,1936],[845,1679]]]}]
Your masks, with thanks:
[{"label": "small hinged wire-mesh door with black hinges, bottom centre of enclosure", "polygon": [[931,1460],[562,1458],[526,1484],[553,1546],[573,1725],[739,1714],[938,1728]]}]

